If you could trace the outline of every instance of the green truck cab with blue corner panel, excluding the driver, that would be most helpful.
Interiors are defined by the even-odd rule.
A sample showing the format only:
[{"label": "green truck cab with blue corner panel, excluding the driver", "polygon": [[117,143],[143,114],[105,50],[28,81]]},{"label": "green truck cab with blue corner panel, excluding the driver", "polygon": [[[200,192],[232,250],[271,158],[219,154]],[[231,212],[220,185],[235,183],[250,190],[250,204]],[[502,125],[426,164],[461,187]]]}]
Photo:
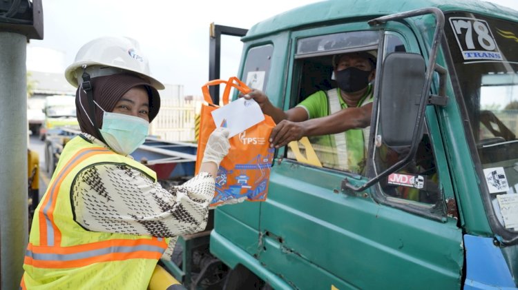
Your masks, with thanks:
[{"label": "green truck cab with blue corner panel, excluding the driver", "polygon": [[265,202],[215,210],[224,289],[517,288],[518,12],[332,0],[242,42],[238,76],[284,110],[336,87],[332,55],[378,58],[365,173],[276,150]]}]

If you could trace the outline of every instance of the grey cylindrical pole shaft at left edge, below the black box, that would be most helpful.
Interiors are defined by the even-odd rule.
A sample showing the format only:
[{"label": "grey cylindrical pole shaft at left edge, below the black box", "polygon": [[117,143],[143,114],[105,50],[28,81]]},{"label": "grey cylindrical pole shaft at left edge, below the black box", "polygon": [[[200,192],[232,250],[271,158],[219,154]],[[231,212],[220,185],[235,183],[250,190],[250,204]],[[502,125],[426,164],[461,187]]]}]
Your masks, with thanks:
[{"label": "grey cylindrical pole shaft at left edge, below the black box", "polygon": [[0,32],[1,288],[15,289],[27,246],[27,97],[24,35]]}]

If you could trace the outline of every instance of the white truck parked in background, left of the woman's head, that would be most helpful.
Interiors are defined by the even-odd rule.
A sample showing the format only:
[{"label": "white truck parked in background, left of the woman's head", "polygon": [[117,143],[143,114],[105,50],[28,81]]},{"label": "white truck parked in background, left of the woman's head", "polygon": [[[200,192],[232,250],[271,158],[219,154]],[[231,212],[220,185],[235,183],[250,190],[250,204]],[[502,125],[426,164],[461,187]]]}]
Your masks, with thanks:
[{"label": "white truck parked in background, left of the woman's head", "polygon": [[75,96],[48,96],[44,105],[45,120],[39,130],[39,138],[60,134],[62,128],[79,130],[75,114]]}]

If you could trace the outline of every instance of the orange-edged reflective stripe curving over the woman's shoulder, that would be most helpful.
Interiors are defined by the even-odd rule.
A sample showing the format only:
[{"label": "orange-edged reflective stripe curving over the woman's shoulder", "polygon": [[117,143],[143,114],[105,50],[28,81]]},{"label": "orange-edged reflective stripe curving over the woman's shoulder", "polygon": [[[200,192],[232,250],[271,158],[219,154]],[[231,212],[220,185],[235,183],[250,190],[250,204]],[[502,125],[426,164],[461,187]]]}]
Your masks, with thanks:
[{"label": "orange-edged reflective stripe curving over the woman's shoulder", "polygon": [[50,185],[50,191],[46,194],[44,203],[41,205],[41,211],[39,211],[39,239],[42,246],[59,246],[61,244],[61,231],[55,225],[53,216],[59,187],[61,187],[61,183],[75,165],[95,154],[115,153],[101,147],[81,149],[68,160],[68,163],[61,169],[52,185]]}]

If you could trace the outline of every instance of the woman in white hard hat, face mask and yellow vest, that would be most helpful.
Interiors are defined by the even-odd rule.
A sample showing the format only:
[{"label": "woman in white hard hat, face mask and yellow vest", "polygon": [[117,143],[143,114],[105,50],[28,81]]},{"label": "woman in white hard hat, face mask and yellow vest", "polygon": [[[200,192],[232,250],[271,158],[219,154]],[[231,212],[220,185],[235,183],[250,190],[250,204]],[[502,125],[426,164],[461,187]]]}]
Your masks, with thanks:
[{"label": "woman in white hard hat, face mask and yellow vest", "polygon": [[164,189],[133,160],[160,110],[148,62],[131,39],[86,43],[66,79],[81,134],[70,140],[37,207],[23,289],[146,289],[181,234],[204,229],[228,132],[209,138],[200,174]]}]

